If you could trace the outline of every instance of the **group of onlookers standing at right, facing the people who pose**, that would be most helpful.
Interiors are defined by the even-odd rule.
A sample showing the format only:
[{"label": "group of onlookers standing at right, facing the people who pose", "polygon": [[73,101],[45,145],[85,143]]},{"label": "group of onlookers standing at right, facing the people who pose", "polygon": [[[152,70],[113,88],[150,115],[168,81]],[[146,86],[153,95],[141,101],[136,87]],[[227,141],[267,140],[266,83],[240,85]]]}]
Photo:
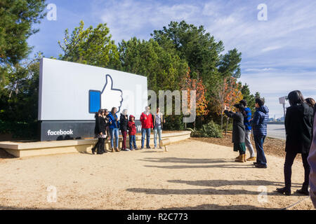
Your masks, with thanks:
[{"label": "group of onlookers standing at right, facing the people who pose", "polygon": [[[308,155],[312,144],[312,126],[315,115],[315,100],[312,98],[303,98],[299,90],[288,94],[290,106],[284,120],[286,140],[286,156],[284,162],[284,188],[277,188],[277,192],[291,195],[291,167],[298,153],[301,153],[303,167],[305,170],[304,183],[297,193],[309,195],[309,175],[310,165]],[[263,151],[263,143],[267,136],[267,124],[269,119],[269,109],[264,105],[264,99],[256,99],[256,112],[251,118],[251,109],[246,107],[246,101],[242,100],[235,104],[235,111],[232,112],[228,107],[224,113],[233,119],[232,142],[234,151],[239,151],[236,162],[254,161],[256,168],[267,168],[267,160]],[[251,145],[251,129],[254,133],[254,142],[256,145],[255,157],[254,148]],[[248,148],[250,157],[246,159],[246,148]],[[316,149],[315,149],[316,150]]]}]

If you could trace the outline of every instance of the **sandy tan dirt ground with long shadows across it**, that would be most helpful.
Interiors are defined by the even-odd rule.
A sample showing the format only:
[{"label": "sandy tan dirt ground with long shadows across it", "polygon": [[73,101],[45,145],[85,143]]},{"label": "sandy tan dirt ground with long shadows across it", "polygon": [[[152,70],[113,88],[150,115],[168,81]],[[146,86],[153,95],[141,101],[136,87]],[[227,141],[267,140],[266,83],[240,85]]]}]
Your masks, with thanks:
[{"label": "sandy tan dirt ground with long shadows across it", "polygon": [[[193,139],[169,152],[65,154],[0,161],[0,209],[282,209],[304,196],[283,196],[284,159],[268,155],[268,169],[237,163],[232,148]],[[296,160],[292,191],[301,187]],[[48,186],[57,202],[46,200]],[[268,202],[258,195],[268,190]],[[310,199],[292,209],[313,209]]]}]

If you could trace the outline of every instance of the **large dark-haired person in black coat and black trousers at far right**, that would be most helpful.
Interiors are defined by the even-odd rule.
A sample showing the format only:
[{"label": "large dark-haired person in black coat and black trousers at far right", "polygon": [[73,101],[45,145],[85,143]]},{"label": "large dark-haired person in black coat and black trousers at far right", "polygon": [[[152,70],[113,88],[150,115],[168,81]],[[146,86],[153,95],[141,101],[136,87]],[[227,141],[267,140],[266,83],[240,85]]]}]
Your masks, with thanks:
[{"label": "large dark-haired person in black coat and black trousers at far right", "polygon": [[288,95],[291,106],[287,108],[284,125],[287,134],[285,144],[285,162],[284,162],[284,188],[277,188],[277,192],[291,195],[291,167],[298,153],[301,153],[303,167],[305,171],[305,179],[303,187],[296,190],[297,193],[309,195],[309,175],[310,165],[308,165],[308,153],[312,141],[312,117],[313,109],[305,104],[303,94],[295,90]]}]

